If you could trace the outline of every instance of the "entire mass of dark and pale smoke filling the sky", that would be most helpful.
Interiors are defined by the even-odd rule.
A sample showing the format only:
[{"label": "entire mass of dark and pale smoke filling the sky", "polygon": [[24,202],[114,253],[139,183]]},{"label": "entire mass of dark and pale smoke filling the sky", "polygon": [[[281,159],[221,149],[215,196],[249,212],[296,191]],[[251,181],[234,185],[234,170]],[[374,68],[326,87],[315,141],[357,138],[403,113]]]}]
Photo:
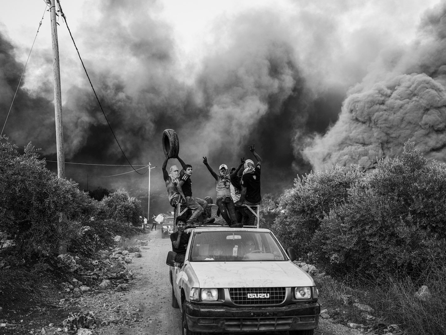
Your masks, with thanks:
[{"label": "entire mass of dark and pale smoke filling the sky", "polygon": [[[166,128],[177,131],[180,156],[194,167],[198,197],[215,196],[202,156],[215,169],[221,163],[236,166],[241,157],[252,158],[252,143],[264,160],[262,194],[281,193],[296,173],[311,166],[361,159],[372,166],[374,156],[397,154],[408,138],[417,141],[417,131],[425,132],[420,138],[428,134],[425,143],[434,155],[426,138],[433,143],[444,129],[441,17],[435,16],[438,9],[429,12],[418,43],[391,48],[420,7],[414,2],[395,18],[395,6],[393,1],[297,0],[222,14],[206,27],[211,38],[203,42],[202,53],[189,58],[182,57],[173,27],[161,19],[159,1],[90,1],[72,32],[124,152],[134,164],[157,165],[151,194],[157,210],[166,210],[160,169]],[[398,29],[389,33],[383,28],[388,22]],[[66,160],[126,163],[59,23]],[[2,111],[23,68],[17,48],[0,32]],[[31,60],[5,133],[20,146],[33,141],[42,156],[54,159],[51,49],[37,47]],[[419,110],[422,115],[415,116]],[[125,187],[147,196],[147,175],[100,179],[125,170],[66,168],[67,177],[82,188],[88,173],[90,189]]]}]

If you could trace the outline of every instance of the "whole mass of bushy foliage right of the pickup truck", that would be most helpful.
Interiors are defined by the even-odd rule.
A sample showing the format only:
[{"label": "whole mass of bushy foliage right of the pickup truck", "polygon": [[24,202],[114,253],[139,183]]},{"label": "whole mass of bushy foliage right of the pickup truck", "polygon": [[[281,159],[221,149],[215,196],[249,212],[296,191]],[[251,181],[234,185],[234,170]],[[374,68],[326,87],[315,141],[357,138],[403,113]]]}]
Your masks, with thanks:
[{"label": "whole mass of bushy foliage right of the pickup truck", "polygon": [[419,275],[445,259],[446,165],[428,164],[413,142],[367,175],[337,167],[295,186],[274,230],[331,273]]}]

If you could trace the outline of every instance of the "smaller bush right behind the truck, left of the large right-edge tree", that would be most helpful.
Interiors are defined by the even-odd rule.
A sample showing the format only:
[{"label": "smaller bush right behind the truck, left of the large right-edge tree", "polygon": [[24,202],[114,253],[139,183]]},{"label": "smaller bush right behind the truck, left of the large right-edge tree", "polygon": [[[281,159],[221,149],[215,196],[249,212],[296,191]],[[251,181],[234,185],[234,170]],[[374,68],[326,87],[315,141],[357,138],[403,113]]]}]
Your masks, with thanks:
[{"label": "smaller bush right behind the truck, left of the large right-edge tree", "polygon": [[294,188],[281,197],[280,213],[272,230],[285,248],[294,247],[298,256],[309,260],[312,257],[311,239],[319,229],[325,214],[347,198],[347,190],[364,176],[359,166],[344,173],[337,165],[326,172],[310,172],[302,180],[294,180]]}]

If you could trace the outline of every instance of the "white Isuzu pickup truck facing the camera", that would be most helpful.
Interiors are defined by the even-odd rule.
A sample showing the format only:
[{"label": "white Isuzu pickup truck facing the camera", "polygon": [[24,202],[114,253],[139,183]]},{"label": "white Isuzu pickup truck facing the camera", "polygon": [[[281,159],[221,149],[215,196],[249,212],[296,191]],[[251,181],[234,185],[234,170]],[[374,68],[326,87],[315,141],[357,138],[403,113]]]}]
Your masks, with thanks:
[{"label": "white Isuzu pickup truck facing the camera", "polygon": [[313,279],[268,229],[190,228],[184,263],[169,251],[172,306],[182,334],[313,335],[320,305]]}]

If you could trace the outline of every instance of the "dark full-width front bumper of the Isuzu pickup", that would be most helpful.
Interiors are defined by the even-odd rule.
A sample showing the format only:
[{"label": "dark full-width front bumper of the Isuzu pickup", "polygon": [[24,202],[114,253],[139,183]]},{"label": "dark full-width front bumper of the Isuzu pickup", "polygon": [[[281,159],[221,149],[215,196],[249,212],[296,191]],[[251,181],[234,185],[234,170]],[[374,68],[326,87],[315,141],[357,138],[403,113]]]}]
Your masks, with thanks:
[{"label": "dark full-width front bumper of the Isuzu pickup", "polygon": [[297,331],[318,327],[318,302],[268,307],[230,307],[184,303],[190,331],[237,333]]}]

